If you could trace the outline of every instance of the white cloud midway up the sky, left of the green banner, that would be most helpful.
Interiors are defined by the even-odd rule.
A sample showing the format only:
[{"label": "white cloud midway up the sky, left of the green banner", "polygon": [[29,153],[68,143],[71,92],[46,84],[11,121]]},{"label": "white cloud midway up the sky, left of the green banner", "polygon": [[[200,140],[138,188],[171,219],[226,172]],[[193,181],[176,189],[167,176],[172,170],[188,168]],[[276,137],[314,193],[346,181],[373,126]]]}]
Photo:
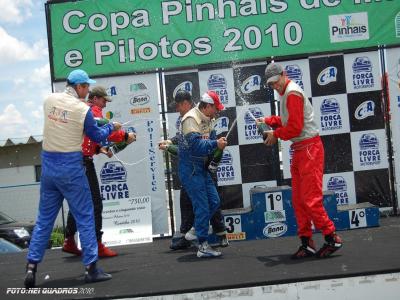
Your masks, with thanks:
[{"label": "white cloud midway up the sky, left of the green banner", "polygon": [[11,64],[18,61],[38,60],[45,57],[47,53],[47,42],[45,39],[41,39],[33,45],[29,45],[9,35],[7,31],[0,26],[0,57],[2,58],[0,60],[0,65]]}]

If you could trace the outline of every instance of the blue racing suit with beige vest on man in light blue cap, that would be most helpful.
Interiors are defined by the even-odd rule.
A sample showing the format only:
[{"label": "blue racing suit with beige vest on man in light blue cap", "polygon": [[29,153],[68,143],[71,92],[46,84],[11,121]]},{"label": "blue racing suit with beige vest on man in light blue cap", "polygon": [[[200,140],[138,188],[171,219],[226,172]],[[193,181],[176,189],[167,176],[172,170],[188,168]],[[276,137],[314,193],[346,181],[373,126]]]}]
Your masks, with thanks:
[{"label": "blue racing suit with beige vest on man in light blue cap", "polygon": [[[79,149],[83,133],[93,141],[100,142],[114,130],[114,125],[98,127],[89,107],[78,102],[80,100],[76,99],[74,91],[53,95],[55,96],[51,105],[46,107],[47,100],[45,101],[39,212],[27,260],[33,264],[42,261],[55,219],[65,198],[78,226],[83,250],[82,260],[87,266],[98,260],[98,249],[92,195]],[[69,117],[70,115],[72,116]],[[63,139],[65,136],[68,138]],[[69,151],[71,149],[76,151]]]}]

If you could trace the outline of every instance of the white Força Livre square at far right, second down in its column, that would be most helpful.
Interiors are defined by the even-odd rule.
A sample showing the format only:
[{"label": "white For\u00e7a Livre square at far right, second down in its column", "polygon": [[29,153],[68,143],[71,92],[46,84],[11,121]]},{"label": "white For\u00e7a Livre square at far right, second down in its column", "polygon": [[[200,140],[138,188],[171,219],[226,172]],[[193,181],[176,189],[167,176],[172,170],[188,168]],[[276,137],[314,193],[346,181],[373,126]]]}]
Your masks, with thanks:
[{"label": "white For\u00e7a Livre square at far right, second down in its column", "polygon": [[354,171],[388,168],[384,129],[352,132],[350,135]]}]

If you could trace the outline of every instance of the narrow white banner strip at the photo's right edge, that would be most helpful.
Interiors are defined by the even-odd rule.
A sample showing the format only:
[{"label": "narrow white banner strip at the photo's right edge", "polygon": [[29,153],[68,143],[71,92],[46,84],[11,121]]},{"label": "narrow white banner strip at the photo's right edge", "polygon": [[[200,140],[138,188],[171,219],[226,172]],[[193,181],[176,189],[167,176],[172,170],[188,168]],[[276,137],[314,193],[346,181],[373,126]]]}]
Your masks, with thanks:
[{"label": "narrow white banner strip at the photo's right edge", "polygon": [[[400,36],[400,16],[399,16]],[[386,50],[386,65],[390,96],[390,122],[392,123],[392,139],[394,149],[394,161],[400,160],[400,48]],[[396,180],[397,199],[400,199],[400,166],[394,164]]]}]

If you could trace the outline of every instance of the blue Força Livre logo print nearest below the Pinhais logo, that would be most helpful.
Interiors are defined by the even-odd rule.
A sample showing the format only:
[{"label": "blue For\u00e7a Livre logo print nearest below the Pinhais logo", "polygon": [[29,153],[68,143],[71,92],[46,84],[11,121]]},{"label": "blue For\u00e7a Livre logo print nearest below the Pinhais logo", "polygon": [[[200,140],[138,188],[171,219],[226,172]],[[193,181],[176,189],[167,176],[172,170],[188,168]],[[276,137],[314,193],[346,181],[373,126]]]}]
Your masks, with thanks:
[{"label": "blue For\u00e7a Livre logo print nearest below the Pinhais logo", "polygon": [[353,62],[353,87],[354,89],[374,87],[372,63],[366,56],[357,57]]}]

